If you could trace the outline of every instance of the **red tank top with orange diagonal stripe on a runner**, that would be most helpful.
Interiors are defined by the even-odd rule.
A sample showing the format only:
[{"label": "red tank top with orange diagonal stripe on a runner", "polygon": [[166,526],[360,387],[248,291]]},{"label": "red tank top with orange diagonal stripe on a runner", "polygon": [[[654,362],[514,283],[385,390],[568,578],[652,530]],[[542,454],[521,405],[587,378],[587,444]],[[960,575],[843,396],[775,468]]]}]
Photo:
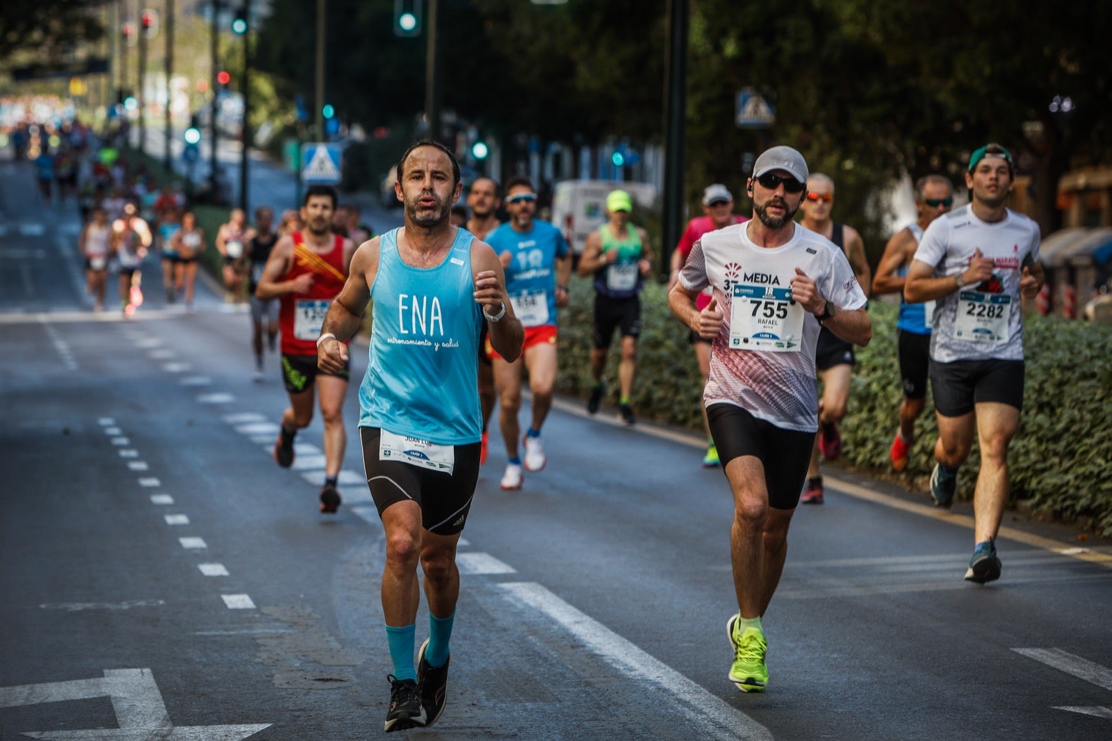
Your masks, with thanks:
[{"label": "red tank top with orange diagonal stripe on a runner", "polygon": [[286,294],[281,297],[278,313],[281,352],[284,355],[316,355],[320,325],[325,322],[332,299],[339,295],[347,280],[344,270],[344,237],[336,235],[332,248],[324,254],[307,247],[300,231],[295,231],[290,237],[294,239],[294,263],[282,279],[292,280],[299,275],[311,275],[312,288],[307,294]]}]

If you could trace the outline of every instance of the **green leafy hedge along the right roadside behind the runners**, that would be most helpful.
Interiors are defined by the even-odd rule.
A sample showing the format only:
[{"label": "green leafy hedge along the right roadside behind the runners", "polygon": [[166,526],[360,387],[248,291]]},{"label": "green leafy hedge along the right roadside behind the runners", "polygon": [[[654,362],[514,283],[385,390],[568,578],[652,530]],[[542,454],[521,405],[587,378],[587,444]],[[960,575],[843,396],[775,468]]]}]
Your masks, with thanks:
[{"label": "green leafy hedge along the right roadside behind the runners", "polygon": [[[633,406],[638,417],[702,432],[702,383],[687,328],[672,315],[664,286],[642,295],[642,336]],[[589,353],[594,290],[575,278],[572,305],[560,309],[560,374],[557,388],[585,397],[590,386]],[[872,474],[925,491],[937,436],[934,405],[916,427],[907,470],[894,474],[888,446],[897,426],[903,391],[896,365],[896,307],[870,307],[873,340],[857,349],[850,413],[842,424],[843,458]],[[1013,500],[1112,535],[1112,327],[1037,315],[1025,319],[1026,384],[1023,416],[1009,463]],[[618,342],[606,365],[609,402],[617,401]],[[962,467],[960,498],[971,498],[980,465],[976,443]]]}]

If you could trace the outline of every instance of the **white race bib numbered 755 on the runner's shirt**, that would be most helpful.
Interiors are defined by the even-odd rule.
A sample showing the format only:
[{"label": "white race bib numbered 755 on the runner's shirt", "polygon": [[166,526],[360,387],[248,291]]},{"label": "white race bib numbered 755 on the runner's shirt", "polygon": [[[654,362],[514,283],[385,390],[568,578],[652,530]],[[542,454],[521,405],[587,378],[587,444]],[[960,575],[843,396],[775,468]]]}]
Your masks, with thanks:
[{"label": "white race bib numbered 755 on the runner's shirt", "polygon": [[791,288],[734,286],[729,307],[729,348],[798,353],[803,346],[803,306]]}]

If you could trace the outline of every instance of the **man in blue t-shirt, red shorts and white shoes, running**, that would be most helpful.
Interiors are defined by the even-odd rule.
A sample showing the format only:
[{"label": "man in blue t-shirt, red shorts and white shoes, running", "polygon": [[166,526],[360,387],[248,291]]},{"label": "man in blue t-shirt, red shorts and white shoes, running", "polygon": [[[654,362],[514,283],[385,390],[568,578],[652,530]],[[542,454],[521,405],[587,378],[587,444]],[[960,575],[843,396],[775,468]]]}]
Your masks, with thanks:
[{"label": "man in blue t-shirt, red shorts and white shoes, running", "polygon": [[[553,405],[556,383],[556,307],[567,306],[567,281],[572,259],[563,233],[548,221],[533,218],[537,194],[533,181],[517,177],[506,184],[506,211],[509,220],[486,236],[506,271],[506,293],[514,315],[525,327],[525,346],[516,360],[503,358],[487,338],[487,355],[494,365],[494,385],[500,411],[498,427],[506,443],[504,490],[522,488],[525,471],[540,471],[547,464],[540,443],[540,427]],[[522,429],[517,412],[522,408],[522,370],[529,372],[533,417],[520,438],[525,460],[518,455]]]}]

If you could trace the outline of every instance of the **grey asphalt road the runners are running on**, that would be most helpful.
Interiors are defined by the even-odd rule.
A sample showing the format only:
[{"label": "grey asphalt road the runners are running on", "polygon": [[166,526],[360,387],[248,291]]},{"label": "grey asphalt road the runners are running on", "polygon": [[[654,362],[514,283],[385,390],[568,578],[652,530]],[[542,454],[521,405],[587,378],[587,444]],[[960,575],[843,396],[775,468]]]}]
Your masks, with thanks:
[{"label": "grey asphalt road the runners are running on", "polygon": [[[270,446],[277,358],[206,286],[197,314],[93,314],[77,221],[0,161],[0,739],[378,738],[383,533],[350,434],[317,513],[319,421]],[[153,266],[151,266],[153,267]],[[366,357],[354,354],[354,375]],[[651,383],[642,378],[641,383]],[[560,402],[548,467],[460,549],[448,705],[426,739],[1109,739],[1112,547],[1009,516],[963,581],[952,513],[832,472],[765,616],[771,683],[726,680],[732,504],[698,441]],[[418,641],[427,631],[424,610]]]}]

